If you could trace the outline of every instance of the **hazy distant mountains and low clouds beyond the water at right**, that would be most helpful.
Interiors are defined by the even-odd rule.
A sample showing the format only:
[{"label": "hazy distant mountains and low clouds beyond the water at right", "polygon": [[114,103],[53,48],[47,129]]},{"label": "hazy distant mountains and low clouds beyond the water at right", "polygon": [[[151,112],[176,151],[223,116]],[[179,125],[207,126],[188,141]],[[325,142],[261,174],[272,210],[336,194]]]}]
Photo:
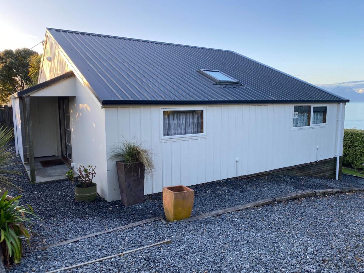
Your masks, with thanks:
[{"label": "hazy distant mountains and low clouds beyond the water at right", "polygon": [[317,86],[349,99],[351,102],[364,102],[364,80],[334,84],[317,84]]}]

